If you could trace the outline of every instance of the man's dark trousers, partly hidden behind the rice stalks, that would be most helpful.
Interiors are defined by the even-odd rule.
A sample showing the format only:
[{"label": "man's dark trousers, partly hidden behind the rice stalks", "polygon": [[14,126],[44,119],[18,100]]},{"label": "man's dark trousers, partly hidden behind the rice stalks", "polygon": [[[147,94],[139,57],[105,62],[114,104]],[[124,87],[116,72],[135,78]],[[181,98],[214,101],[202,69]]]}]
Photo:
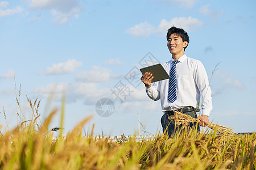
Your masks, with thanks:
[{"label": "man's dark trousers, partly hidden behind the rice stalks", "polygon": [[[193,117],[193,118],[197,118],[197,114],[195,111],[192,112],[183,112],[183,114],[188,114],[189,116]],[[167,112],[164,112],[162,118],[161,118],[161,124],[163,127],[163,133],[164,131],[166,131],[166,133],[169,135],[169,137],[171,137],[171,135],[175,134],[176,130],[180,130],[181,126],[176,127],[175,129],[175,120],[169,120],[168,117],[171,116],[171,114],[168,114]],[[189,126],[192,128],[193,126],[196,127],[196,122],[191,122],[189,123]],[[199,125],[197,125],[197,133],[200,132],[200,128]]]}]

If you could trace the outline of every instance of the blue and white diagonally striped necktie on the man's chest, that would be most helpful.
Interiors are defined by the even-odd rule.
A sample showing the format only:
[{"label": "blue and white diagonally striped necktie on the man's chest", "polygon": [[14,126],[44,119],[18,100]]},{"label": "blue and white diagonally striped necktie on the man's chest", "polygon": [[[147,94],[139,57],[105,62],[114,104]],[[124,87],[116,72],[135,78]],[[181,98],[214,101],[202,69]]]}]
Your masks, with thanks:
[{"label": "blue and white diagonally striped necktie on the man's chest", "polygon": [[170,79],[169,79],[169,90],[168,90],[168,100],[171,103],[177,99],[176,94],[176,63],[179,61],[174,60],[172,61],[172,68],[170,70]]}]

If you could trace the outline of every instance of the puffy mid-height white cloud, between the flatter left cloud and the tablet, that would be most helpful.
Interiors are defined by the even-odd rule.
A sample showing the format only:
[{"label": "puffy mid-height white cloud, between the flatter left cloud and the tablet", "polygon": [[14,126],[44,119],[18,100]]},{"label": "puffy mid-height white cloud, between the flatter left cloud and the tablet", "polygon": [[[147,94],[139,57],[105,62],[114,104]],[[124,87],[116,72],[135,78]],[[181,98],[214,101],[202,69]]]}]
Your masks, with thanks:
[{"label": "puffy mid-height white cloud, between the flatter left cloud and the tablet", "polygon": [[77,80],[84,80],[85,82],[107,82],[110,78],[110,70],[92,66],[88,71],[81,71],[77,73]]}]

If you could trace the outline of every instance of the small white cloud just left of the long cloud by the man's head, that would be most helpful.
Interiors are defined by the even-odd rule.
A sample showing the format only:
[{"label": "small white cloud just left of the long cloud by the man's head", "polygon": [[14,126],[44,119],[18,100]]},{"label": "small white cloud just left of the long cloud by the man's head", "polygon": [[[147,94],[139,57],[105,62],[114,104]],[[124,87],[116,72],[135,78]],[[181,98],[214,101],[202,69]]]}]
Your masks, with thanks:
[{"label": "small white cloud just left of the long cloud by the man's head", "polygon": [[129,33],[130,35],[134,35],[137,37],[149,36],[154,32],[154,27],[147,22],[140,23],[135,25],[134,27],[128,28],[125,33]]}]

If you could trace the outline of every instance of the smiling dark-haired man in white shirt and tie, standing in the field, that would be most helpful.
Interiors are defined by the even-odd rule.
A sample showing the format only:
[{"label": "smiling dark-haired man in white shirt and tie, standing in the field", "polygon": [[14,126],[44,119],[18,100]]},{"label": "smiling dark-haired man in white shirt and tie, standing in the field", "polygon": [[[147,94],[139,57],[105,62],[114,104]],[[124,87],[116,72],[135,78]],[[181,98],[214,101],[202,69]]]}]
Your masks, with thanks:
[{"label": "smiling dark-haired man in white shirt and tie, standing in the field", "polygon": [[[212,97],[208,76],[203,64],[197,59],[189,58],[184,51],[189,43],[187,32],[181,28],[171,27],[167,32],[167,47],[172,59],[163,64],[170,79],[155,82],[151,85],[154,75],[145,73],[141,80],[146,86],[148,97],[159,100],[162,105],[161,124],[163,132],[168,135],[175,133],[174,120],[168,117],[179,111],[200,120],[200,126],[207,126],[209,114],[212,111]],[[201,116],[197,117],[196,108],[202,98]],[[190,124],[192,127],[195,124]],[[199,127],[197,129],[199,131]]]}]

